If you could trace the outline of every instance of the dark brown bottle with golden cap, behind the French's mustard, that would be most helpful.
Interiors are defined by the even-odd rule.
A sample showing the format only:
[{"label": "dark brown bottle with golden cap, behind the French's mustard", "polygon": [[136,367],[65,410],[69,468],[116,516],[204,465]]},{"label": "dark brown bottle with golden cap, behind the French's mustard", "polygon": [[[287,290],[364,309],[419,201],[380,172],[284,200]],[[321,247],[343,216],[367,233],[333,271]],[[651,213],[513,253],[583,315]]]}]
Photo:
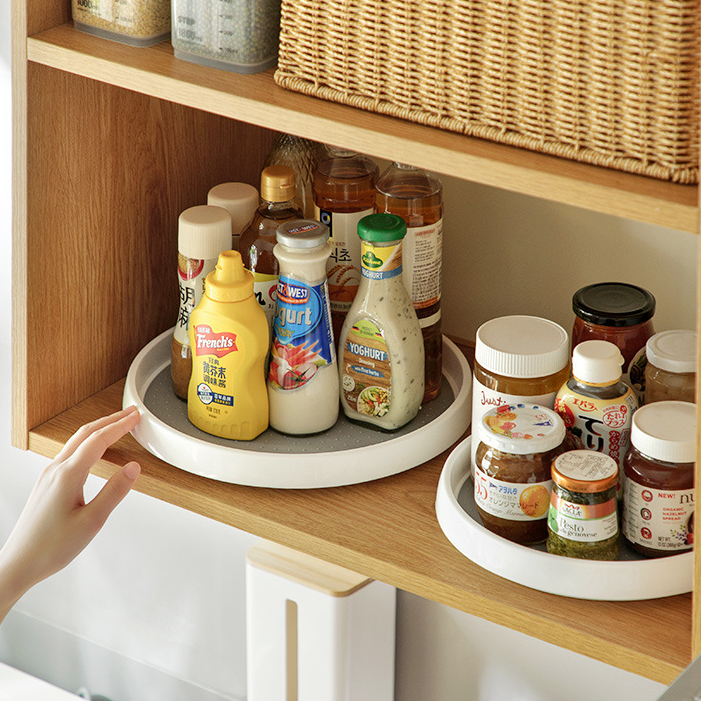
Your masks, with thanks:
[{"label": "dark brown bottle with golden cap, behind the French's mustard", "polygon": [[253,273],[253,288],[272,333],[279,264],[273,255],[277,228],[290,219],[301,219],[295,199],[295,173],[284,165],[268,166],[260,176],[261,203],[253,221],[239,240],[246,270]]}]

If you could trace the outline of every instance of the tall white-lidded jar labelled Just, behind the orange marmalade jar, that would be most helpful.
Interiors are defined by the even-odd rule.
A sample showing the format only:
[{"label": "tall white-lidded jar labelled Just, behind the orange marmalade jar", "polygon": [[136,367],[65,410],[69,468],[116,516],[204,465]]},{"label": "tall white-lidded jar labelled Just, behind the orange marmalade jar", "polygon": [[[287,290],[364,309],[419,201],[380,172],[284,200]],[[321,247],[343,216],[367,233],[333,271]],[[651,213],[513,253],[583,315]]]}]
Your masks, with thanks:
[{"label": "tall white-lidded jar labelled Just, behind the orange marmalade jar", "polygon": [[[472,385],[472,424],[504,404],[553,408],[569,378],[570,346],[558,324],[535,316],[504,316],[477,329]],[[472,444],[472,471],[477,442]]]}]

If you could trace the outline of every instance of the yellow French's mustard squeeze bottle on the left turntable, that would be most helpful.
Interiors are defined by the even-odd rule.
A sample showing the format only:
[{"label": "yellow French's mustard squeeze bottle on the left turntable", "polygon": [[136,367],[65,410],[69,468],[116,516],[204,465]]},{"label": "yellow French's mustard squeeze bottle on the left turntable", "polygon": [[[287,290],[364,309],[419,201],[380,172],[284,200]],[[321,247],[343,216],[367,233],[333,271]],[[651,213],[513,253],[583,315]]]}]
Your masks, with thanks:
[{"label": "yellow French's mustard squeeze bottle on the left turntable", "polygon": [[268,427],[269,333],[238,251],[224,251],[190,315],[187,416],[214,436],[252,440]]}]

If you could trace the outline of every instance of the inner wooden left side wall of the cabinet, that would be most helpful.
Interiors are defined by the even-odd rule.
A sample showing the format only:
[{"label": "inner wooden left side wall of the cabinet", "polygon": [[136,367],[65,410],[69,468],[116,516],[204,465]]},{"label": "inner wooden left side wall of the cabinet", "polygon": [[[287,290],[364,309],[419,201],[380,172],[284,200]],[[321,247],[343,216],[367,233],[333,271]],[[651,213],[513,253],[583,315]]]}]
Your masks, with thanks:
[{"label": "inner wooden left side wall of the cabinet", "polygon": [[31,429],[175,323],[179,213],[219,182],[257,184],[273,134],[31,63],[28,84]]}]

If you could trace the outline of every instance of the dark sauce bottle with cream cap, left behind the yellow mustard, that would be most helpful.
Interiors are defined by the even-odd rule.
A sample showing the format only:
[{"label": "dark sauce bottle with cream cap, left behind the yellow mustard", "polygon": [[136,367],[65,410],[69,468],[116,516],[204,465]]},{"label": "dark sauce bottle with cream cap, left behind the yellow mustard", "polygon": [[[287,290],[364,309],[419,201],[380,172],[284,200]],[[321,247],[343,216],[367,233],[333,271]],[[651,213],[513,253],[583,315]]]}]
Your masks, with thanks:
[{"label": "dark sauce bottle with cream cap, left behind the yellow mustard", "polygon": [[231,247],[231,217],[221,207],[197,205],[178,218],[178,289],[180,306],[173,330],[170,374],[173,391],[187,399],[192,373],[192,351],[188,336],[190,314],[204,294],[205,278],[222,251]]}]

